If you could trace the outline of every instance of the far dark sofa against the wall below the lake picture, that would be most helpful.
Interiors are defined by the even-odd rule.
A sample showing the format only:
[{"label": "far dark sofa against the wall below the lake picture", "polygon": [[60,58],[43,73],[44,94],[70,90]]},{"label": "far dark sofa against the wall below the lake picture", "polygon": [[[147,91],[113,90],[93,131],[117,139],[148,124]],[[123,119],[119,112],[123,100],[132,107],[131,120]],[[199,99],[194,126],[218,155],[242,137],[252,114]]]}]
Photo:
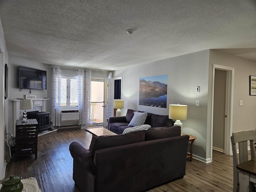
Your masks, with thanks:
[{"label": "far dark sofa against the wall below the lake picture", "polygon": [[[128,124],[131,122],[134,112],[135,110],[128,109],[126,116],[110,117],[108,119],[108,129],[116,134],[122,134],[126,128],[132,127],[128,126]],[[169,119],[168,115],[148,113],[144,124],[150,125],[151,129],[164,129],[173,126],[174,122]]]}]

